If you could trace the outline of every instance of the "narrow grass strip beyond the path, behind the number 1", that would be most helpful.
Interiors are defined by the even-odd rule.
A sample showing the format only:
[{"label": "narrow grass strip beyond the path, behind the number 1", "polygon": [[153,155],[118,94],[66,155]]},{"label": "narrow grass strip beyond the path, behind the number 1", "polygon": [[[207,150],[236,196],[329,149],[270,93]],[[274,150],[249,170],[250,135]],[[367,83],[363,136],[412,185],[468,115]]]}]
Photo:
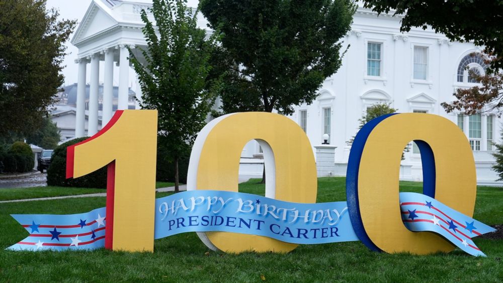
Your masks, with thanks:
[{"label": "narrow grass strip beyond the path, behind the number 1", "polygon": [[[156,182],[155,187],[174,186],[171,182]],[[106,193],[102,188],[38,186],[27,188],[0,188],[0,201],[52,198]]]}]

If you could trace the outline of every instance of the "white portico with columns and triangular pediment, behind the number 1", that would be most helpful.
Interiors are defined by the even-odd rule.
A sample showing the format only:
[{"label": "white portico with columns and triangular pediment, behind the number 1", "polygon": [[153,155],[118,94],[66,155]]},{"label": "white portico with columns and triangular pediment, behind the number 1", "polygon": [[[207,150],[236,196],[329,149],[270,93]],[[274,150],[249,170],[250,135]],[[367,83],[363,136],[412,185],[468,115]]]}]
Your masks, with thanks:
[{"label": "white portico with columns and triangular pediment, behind the number 1", "polygon": [[[150,6],[150,3],[143,4],[139,1],[94,0],[79,24],[71,40],[78,48],[78,57],[75,59],[78,64],[75,137],[92,136],[101,129],[98,117],[100,106],[102,126],[110,121],[113,116],[114,82],[119,85],[117,109],[134,108],[134,100],[131,101],[129,97],[129,88],[135,79],[129,50],[137,52],[137,46],[146,48],[141,32],[144,24],[140,12]],[[141,55],[140,52],[137,53]],[[88,82],[90,95],[86,107]],[[99,97],[101,83],[102,100]],[[136,98],[141,99],[139,87],[136,88]],[[86,110],[89,111],[87,132]]]}]

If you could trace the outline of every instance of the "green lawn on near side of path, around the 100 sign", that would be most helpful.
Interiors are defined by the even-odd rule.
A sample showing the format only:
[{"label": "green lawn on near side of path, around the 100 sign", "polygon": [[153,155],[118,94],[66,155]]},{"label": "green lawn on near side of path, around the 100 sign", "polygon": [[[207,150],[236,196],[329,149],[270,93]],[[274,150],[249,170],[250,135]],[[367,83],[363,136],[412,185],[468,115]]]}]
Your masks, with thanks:
[{"label": "green lawn on near side of path, around the 100 sign", "polygon": [[[421,183],[402,182],[404,191]],[[240,191],[264,195],[264,185],[250,180]],[[169,193],[159,193],[160,196]],[[318,202],[344,201],[344,178],[318,179]],[[475,218],[503,223],[503,190],[478,190]],[[9,214],[82,213],[105,206],[105,198],[0,204],[0,249],[27,233]],[[361,242],[300,245],[288,254],[210,251],[195,233],[155,241],[155,252],[13,252],[0,250],[0,281],[499,281],[503,278],[503,240],[477,239],[486,258],[459,250],[415,256],[376,253]]]}]

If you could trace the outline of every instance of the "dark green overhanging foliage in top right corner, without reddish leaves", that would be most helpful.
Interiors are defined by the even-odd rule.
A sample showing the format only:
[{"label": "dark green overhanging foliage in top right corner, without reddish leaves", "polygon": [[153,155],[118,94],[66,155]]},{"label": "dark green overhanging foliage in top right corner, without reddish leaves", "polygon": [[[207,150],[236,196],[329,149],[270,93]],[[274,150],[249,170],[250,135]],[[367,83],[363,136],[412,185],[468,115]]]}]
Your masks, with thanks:
[{"label": "dark green overhanging foliage in top right corner, without reddish leaves", "polygon": [[[485,46],[492,56],[503,55],[503,5],[500,1],[456,0],[363,0],[364,7],[378,13],[404,15],[400,31],[408,32],[411,27],[426,29],[431,26],[452,41],[473,41]],[[493,62],[496,68],[503,61]]]}]

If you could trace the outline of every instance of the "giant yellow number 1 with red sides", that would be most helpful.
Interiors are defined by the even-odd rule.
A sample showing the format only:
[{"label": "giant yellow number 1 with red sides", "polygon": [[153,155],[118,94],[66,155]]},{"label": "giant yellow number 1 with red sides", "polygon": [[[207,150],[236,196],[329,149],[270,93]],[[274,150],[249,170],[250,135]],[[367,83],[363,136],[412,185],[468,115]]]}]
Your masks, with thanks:
[{"label": "giant yellow number 1 with red sides", "polygon": [[157,111],[125,110],[98,134],[67,149],[67,178],[108,165],[108,249],[153,251],[156,143]]}]

